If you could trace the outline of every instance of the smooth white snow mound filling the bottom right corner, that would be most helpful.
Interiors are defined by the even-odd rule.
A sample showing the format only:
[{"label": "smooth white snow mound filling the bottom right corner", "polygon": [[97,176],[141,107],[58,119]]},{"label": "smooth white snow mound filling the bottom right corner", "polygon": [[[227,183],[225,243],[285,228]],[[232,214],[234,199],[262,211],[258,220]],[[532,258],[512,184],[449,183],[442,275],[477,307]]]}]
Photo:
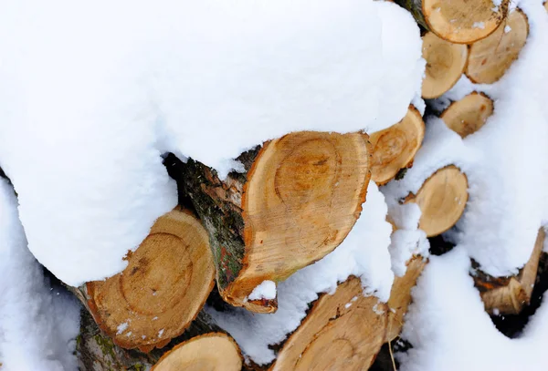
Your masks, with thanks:
[{"label": "smooth white snow mound filling the bottom right corner", "polygon": [[464,249],[430,257],[413,290],[403,337],[413,344],[396,354],[401,371],[541,370],[546,364],[548,294],[525,327],[510,339],[493,325],[469,276]]}]

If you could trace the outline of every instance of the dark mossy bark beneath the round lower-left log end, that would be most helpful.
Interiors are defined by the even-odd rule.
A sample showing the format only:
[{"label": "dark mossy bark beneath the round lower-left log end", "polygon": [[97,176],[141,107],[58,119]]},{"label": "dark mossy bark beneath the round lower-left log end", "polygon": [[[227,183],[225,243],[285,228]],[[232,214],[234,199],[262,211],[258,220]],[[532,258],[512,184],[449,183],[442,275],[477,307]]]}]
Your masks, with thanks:
[{"label": "dark mossy bark beneath the round lower-left log end", "polygon": [[224,333],[213,323],[204,312],[198,314],[193,324],[180,335],[174,338],[162,349],[153,349],[150,353],[138,350],[123,349],[104,335],[91,317],[90,313],[82,309],[80,334],[77,337],[76,350],[79,359],[80,371],[145,371],[149,370],[158,360],[175,345],[189,340],[197,335],[208,333]]}]

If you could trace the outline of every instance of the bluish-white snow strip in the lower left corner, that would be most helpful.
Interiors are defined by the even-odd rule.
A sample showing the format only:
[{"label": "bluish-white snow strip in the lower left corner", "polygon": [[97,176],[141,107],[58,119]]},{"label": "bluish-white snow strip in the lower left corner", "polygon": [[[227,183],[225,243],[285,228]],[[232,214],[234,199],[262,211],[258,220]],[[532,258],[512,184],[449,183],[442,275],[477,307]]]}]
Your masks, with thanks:
[{"label": "bluish-white snow strip in the lower left corner", "polygon": [[26,247],[13,188],[0,179],[0,368],[77,369],[79,304],[49,288]]}]

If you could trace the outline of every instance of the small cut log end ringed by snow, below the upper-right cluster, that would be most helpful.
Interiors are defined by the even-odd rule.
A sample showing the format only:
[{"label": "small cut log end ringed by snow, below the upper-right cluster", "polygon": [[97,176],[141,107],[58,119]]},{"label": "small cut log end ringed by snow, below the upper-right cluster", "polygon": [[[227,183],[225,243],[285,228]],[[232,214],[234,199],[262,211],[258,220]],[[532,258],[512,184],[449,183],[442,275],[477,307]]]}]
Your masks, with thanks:
[{"label": "small cut log end ringed by snow, below the upper-right cluster", "polygon": [[471,93],[453,102],[440,116],[449,129],[466,138],[475,133],[493,113],[493,101],[482,93]]}]

